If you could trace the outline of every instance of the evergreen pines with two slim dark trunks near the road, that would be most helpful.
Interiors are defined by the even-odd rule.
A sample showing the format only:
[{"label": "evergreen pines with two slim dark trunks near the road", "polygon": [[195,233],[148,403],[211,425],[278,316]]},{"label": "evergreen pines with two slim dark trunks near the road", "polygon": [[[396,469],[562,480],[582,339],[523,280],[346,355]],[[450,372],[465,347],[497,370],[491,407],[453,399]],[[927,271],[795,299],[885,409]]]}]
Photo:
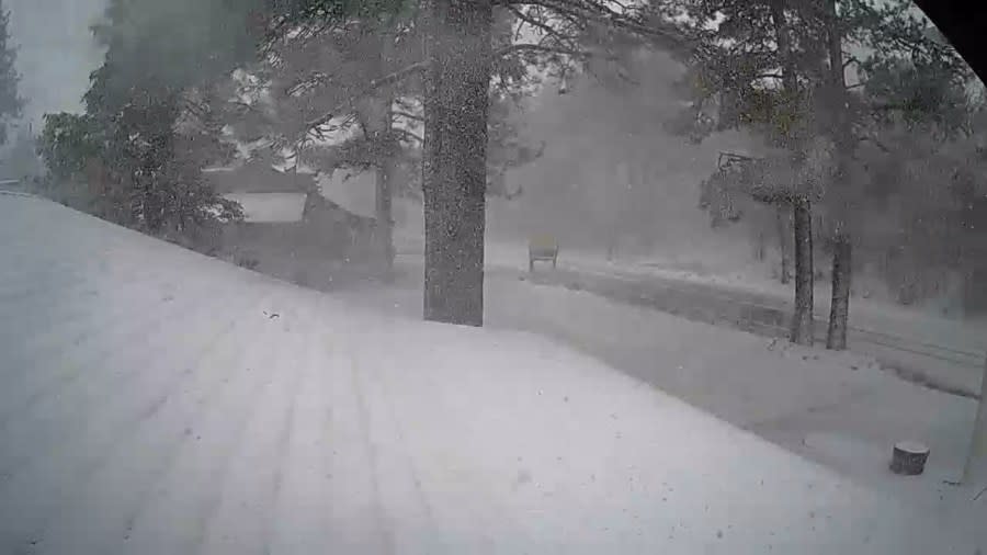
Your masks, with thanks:
[{"label": "evergreen pines with two slim dark trunks near the road", "polygon": [[[770,197],[794,206],[793,340],[797,342],[813,341],[814,218],[807,207],[817,202],[816,208],[826,215],[825,247],[833,254],[827,344],[846,348],[851,251],[862,218],[860,188],[852,177],[860,173],[854,162],[863,139],[860,132],[875,110],[895,103],[905,112],[917,109],[918,91],[896,90],[899,84],[887,81],[889,69],[907,61],[919,71],[916,77],[967,73],[955,50],[909,4],[904,0],[681,2],[682,10],[692,14],[682,25],[702,46],[687,81],[693,107],[676,122],[678,131],[701,139],[726,127],[751,128],[769,144],[786,149],[796,169],[802,167],[793,173],[795,182]],[[851,49],[862,52],[863,59],[851,55]],[[877,79],[873,86],[898,100],[884,107],[867,104],[859,87],[848,83],[848,67],[858,70],[864,83]],[[955,120],[955,99],[945,97],[945,89],[938,95],[928,92],[920,97],[944,103],[940,117]],[[807,165],[809,160],[815,161]],[[763,199],[762,191],[748,193]]]}]

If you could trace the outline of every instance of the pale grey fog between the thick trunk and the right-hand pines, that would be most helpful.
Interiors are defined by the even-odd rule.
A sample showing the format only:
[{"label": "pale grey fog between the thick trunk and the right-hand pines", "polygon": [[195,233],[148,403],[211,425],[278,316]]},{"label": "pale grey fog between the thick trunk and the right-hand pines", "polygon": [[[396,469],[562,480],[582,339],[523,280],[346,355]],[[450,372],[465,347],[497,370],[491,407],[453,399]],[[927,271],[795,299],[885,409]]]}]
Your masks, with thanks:
[{"label": "pale grey fog between the thick trunk and the right-hand pines", "polygon": [[682,110],[672,90],[682,66],[663,54],[640,54],[635,65],[633,83],[583,76],[566,94],[547,89],[531,102],[524,133],[544,141],[545,152],[509,174],[509,189],[523,189],[522,196],[491,201],[491,235],[548,233],[570,249],[611,246],[617,256],[693,267],[744,263],[745,233],[711,228],[699,183],[715,171],[721,150],[749,152],[758,141],[731,132],[695,145],[667,132]]}]

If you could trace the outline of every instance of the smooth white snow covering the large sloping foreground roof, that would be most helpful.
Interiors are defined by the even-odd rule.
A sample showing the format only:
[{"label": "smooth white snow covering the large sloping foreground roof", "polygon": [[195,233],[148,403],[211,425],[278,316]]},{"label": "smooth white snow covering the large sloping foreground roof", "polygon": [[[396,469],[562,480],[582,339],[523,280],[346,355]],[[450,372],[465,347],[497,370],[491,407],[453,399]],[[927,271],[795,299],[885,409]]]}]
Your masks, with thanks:
[{"label": "smooth white snow covering the large sloping foreground roof", "polygon": [[0,553],[954,553],[934,518],[534,336],[32,197],[0,195]]}]

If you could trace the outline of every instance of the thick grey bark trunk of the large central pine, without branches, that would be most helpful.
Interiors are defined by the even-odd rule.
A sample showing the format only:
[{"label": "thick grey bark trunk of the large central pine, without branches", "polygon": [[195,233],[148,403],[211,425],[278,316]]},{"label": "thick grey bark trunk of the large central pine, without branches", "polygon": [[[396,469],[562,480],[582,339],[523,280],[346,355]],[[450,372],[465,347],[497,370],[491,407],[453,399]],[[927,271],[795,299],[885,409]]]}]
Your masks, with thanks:
[{"label": "thick grey bark trunk of the large central pine, without branches", "polygon": [[422,173],[424,318],[484,324],[491,0],[432,0]]}]

